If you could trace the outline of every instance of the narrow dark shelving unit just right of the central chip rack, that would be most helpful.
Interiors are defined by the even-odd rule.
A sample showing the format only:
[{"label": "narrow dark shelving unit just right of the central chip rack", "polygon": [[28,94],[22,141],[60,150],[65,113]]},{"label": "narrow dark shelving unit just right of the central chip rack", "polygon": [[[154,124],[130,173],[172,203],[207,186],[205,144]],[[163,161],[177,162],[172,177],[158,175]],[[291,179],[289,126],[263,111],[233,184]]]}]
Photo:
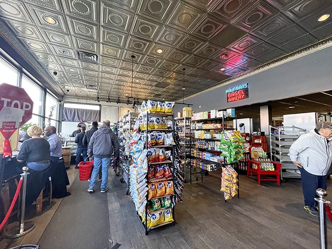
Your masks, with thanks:
[{"label": "narrow dark shelving unit just right of the central chip rack", "polygon": [[[183,118],[175,118],[176,121],[175,127],[177,127],[179,138],[180,138],[180,149],[181,154],[179,154],[180,158],[184,160],[184,182],[187,183],[187,169],[191,170],[191,164],[187,164],[187,159],[191,159],[191,148],[195,147],[195,140],[192,139],[191,133],[191,117],[183,117]],[[193,142],[193,143],[192,143]],[[191,177],[190,177],[191,184]]]}]

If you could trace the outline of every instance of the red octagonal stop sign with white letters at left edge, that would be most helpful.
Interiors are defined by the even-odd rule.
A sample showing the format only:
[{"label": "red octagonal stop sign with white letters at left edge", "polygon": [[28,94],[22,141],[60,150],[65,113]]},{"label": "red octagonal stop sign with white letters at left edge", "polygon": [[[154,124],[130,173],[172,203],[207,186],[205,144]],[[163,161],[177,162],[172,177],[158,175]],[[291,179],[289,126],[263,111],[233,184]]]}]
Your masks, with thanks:
[{"label": "red octagonal stop sign with white letters at left edge", "polygon": [[33,101],[21,87],[6,83],[0,84],[0,110],[3,107],[14,107],[23,110],[21,125],[24,125],[32,117]]}]

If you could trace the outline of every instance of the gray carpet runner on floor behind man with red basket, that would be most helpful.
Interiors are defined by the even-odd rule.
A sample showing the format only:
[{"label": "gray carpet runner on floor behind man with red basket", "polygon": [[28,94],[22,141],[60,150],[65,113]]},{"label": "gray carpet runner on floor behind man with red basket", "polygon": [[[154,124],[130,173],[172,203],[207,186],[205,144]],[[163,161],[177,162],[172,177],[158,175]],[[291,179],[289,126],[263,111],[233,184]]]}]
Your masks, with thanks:
[{"label": "gray carpet runner on floor behind man with red basket", "polygon": [[39,241],[41,248],[109,248],[107,193],[100,193],[98,187],[88,193],[88,182],[75,178],[71,195],[62,200]]}]

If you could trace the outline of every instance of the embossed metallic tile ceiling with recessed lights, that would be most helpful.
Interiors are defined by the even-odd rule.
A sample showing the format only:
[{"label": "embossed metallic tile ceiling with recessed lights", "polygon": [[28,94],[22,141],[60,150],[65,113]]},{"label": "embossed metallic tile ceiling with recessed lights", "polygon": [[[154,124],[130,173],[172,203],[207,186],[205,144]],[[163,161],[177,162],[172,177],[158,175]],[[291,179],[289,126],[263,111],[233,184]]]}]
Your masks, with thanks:
[{"label": "embossed metallic tile ceiling with recessed lights", "polygon": [[176,101],[331,38],[328,13],[332,0],[0,0],[0,34],[62,96]]}]

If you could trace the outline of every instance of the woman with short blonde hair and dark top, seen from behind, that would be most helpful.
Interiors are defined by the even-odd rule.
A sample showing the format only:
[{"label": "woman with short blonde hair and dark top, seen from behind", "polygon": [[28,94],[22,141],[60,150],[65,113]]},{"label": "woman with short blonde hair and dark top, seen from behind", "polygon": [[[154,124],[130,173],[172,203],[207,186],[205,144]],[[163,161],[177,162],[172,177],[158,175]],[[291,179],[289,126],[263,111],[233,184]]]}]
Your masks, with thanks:
[{"label": "woman with short blonde hair and dark top, seen from behind", "polygon": [[50,166],[50,144],[41,137],[43,131],[38,125],[29,127],[26,132],[31,138],[22,143],[16,159],[18,162],[26,161],[30,169],[42,171]]}]

